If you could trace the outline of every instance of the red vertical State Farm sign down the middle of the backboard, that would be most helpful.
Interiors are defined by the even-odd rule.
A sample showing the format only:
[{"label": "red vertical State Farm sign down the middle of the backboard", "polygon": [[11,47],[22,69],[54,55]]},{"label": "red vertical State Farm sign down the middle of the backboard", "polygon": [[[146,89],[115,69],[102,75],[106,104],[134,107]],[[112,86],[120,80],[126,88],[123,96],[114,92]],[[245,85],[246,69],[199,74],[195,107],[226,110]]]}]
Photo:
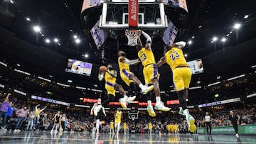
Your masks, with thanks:
[{"label": "red vertical State Farm sign down the middle of the backboard", "polygon": [[128,23],[129,27],[138,27],[138,13],[139,13],[139,2],[138,0],[129,0],[129,5],[128,5]]}]

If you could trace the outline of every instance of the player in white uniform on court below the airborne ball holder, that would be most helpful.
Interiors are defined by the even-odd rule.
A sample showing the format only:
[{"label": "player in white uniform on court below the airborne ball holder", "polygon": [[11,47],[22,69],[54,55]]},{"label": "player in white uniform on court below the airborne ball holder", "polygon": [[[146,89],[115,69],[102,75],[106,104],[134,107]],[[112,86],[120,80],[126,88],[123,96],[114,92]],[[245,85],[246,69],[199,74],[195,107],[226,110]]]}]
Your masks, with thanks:
[{"label": "player in white uniform on court below the airborne ball holder", "polygon": [[[97,103],[95,103],[93,106],[92,106],[92,109],[91,109],[91,115],[93,115],[93,110],[95,109],[96,106],[100,106],[101,105],[101,99],[98,98],[97,99]],[[95,116],[95,120],[96,120],[96,133],[97,135],[100,135],[100,131],[99,131],[99,127],[100,127],[100,121],[102,121],[102,114],[98,114],[98,113],[103,113],[104,116],[107,116],[107,114],[105,113],[105,109],[103,106],[101,106],[101,110],[102,111],[97,111],[97,116]]]}]

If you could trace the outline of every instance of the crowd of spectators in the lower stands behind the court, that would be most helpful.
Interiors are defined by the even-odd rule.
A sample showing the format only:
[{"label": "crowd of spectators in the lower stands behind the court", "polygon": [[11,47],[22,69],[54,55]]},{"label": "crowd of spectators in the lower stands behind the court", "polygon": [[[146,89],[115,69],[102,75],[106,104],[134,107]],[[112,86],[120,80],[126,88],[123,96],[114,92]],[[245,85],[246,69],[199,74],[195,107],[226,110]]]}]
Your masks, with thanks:
[{"label": "crowd of spectators in the lower stands behind the court", "polygon": [[[6,97],[7,94],[1,92],[1,131],[87,131],[92,132],[95,127],[94,117],[85,109],[73,111],[68,109],[52,109],[48,106],[35,105],[28,101],[19,101],[14,99],[15,96]],[[6,99],[8,98],[8,99]],[[14,101],[16,100],[16,101]],[[38,101],[33,101],[38,103]],[[8,103],[9,109],[6,111],[6,124],[3,123],[3,106]],[[233,109],[239,118],[239,125],[255,124],[256,109],[255,104],[245,105],[240,109]],[[203,110],[193,112],[196,118],[198,128],[204,127]],[[103,118],[105,123],[100,126],[100,132],[107,133],[110,131],[110,121],[114,120],[114,109],[107,111],[107,117]],[[188,133],[188,126],[183,116],[178,115],[178,111],[157,113],[155,118],[147,115],[146,111],[139,111],[139,118],[132,121],[127,118],[127,113],[123,113],[122,123],[127,123],[128,131],[135,133],[148,133],[149,123],[152,123],[152,133],[167,133],[167,125],[176,124],[179,133]],[[228,121],[228,111],[221,109],[219,111],[210,112],[212,126],[230,126]],[[136,123],[136,124],[134,124]],[[55,125],[55,128],[53,126]],[[120,132],[123,129],[121,126]]]}]

